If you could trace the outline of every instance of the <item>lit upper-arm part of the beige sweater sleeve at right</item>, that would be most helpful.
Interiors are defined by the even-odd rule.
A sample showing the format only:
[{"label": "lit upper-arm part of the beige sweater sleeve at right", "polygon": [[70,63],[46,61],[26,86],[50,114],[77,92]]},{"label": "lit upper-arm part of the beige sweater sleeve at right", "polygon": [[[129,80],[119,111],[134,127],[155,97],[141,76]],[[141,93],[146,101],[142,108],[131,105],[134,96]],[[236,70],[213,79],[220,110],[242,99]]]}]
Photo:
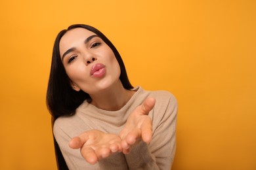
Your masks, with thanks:
[{"label": "lit upper-arm part of the beige sweater sleeve at right", "polygon": [[159,169],[171,169],[176,150],[177,100],[171,93],[158,99],[154,109],[153,137],[149,144]]}]

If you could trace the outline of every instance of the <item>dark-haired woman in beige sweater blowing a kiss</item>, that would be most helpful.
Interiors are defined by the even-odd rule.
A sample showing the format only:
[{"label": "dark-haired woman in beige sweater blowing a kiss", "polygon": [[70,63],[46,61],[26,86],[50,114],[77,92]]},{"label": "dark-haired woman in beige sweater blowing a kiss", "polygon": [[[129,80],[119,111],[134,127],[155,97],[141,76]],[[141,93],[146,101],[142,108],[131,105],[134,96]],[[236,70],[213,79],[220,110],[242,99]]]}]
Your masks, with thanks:
[{"label": "dark-haired woman in beige sweater blowing a kiss", "polygon": [[59,169],[170,169],[177,101],[133,88],[100,31],[76,24],[54,42],[47,106]]}]

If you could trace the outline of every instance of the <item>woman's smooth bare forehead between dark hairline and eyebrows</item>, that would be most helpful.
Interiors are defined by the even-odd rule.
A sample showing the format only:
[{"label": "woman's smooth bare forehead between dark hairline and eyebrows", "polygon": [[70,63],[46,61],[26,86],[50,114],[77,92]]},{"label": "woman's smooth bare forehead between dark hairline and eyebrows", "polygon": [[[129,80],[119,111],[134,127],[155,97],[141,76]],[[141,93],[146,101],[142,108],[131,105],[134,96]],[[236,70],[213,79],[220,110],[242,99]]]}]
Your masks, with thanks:
[{"label": "woman's smooth bare forehead between dark hairline and eyebrows", "polygon": [[83,43],[85,39],[91,35],[96,35],[96,33],[81,27],[67,31],[60,39],[60,54],[62,54],[64,50],[68,50],[77,46],[79,43]]}]

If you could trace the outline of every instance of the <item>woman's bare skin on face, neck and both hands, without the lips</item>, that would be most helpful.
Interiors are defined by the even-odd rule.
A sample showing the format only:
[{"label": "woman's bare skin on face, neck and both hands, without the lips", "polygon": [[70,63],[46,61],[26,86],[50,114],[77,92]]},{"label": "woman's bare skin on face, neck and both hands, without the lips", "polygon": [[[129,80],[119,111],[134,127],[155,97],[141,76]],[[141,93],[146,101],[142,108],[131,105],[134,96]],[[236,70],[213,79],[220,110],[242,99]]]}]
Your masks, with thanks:
[{"label": "woman's bare skin on face, neck and both hands, without the lips", "polygon": [[[89,37],[91,39],[85,41]],[[119,80],[119,64],[111,48],[87,29],[75,28],[62,37],[60,57],[70,78],[70,86],[76,91],[89,93],[91,105],[99,109],[119,110],[135,93],[123,88]],[[106,73],[100,77],[91,76],[91,69],[97,63],[106,69]],[[152,120],[148,113],[154,104],[155,100],[148,98],[131,112],[119,135],[98,130],[85,131],[70,141],[70,148],[79,148],[83,158],[91,164],[116,152],[129,154],[139,141],[151,141]]]}]

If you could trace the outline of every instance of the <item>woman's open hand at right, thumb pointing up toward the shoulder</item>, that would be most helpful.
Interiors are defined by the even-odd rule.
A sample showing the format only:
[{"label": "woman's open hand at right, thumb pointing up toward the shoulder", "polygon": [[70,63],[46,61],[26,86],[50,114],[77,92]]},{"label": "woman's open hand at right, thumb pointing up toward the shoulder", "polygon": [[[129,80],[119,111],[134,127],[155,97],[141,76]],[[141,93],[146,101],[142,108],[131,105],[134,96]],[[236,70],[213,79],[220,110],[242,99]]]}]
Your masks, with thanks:
[{"label": "woman's open hand at right, thumb pointing up toward the shoulder", "polygon": [[139,105],[127,118],[125,127],[119,133],[121,137],[121,147],[123,154],[129,154],[133,144],[141,139],[145,143],[150,143],[152,139],[152,120],[148,113],[153,109],[156,100],[147,98]]}]

